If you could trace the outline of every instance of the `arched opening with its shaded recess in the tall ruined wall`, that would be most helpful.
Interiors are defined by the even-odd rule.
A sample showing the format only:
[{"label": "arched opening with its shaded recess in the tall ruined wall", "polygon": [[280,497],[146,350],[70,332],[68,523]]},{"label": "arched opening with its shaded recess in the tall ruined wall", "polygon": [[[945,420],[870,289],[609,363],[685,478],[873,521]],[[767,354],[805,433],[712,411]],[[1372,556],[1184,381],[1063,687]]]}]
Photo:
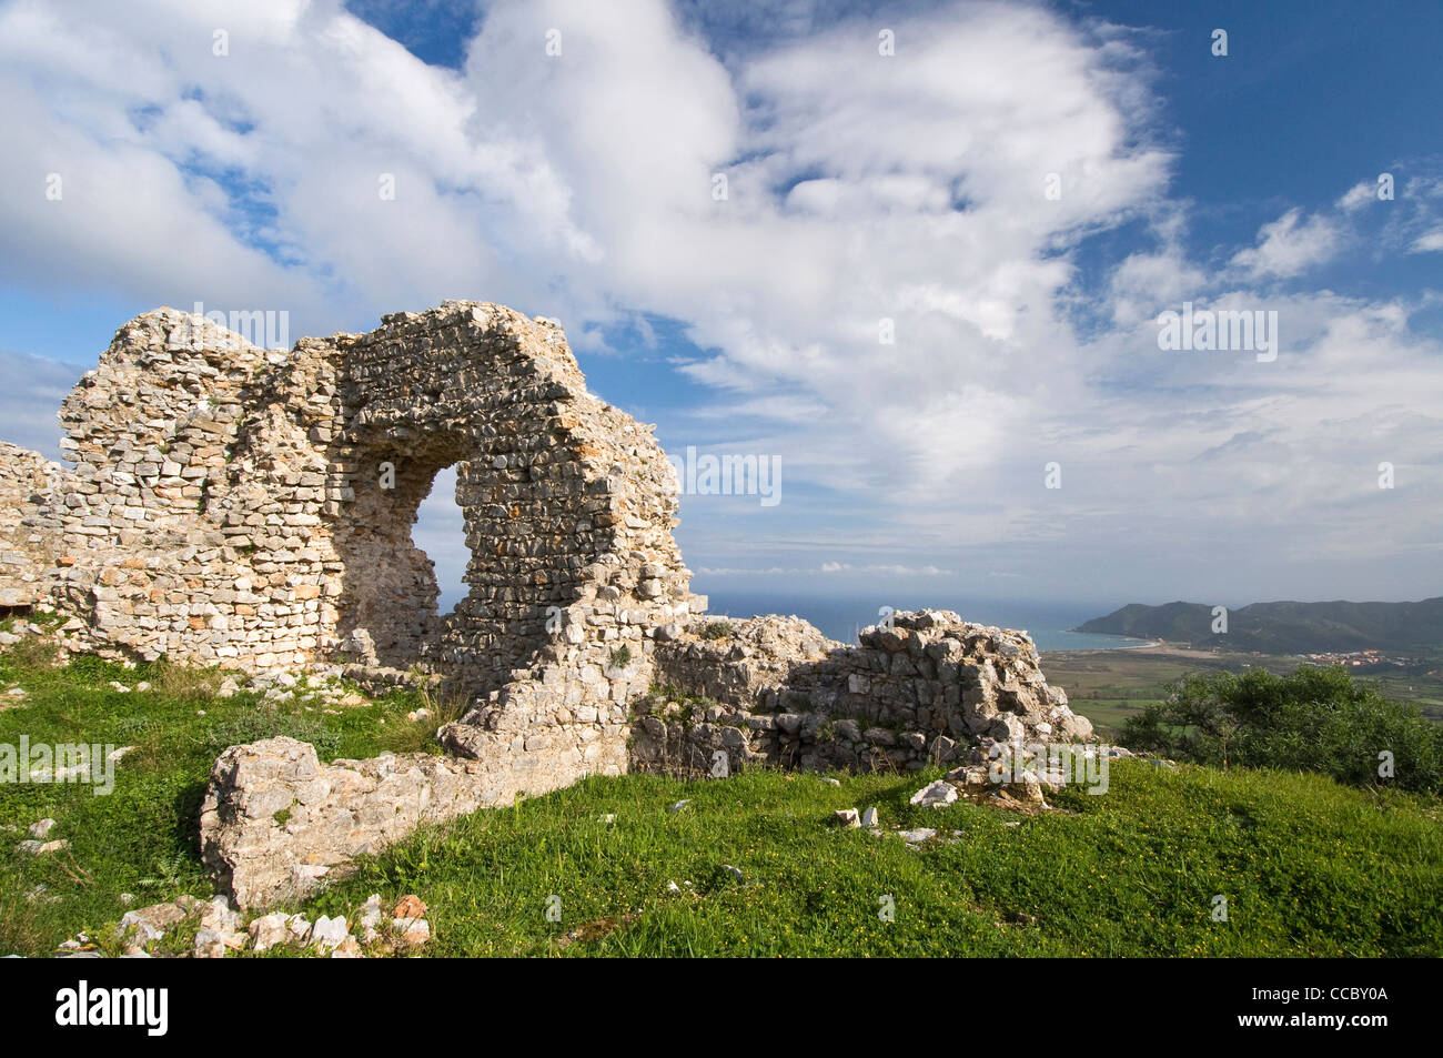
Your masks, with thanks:
[{"label": "arched opening with its shaded recess in the tall ruined wall", "polygon": [[405,456],[391,437],[358,453],[335,511],[341,651],[498,690],[545,645],[551,608],[576,599],[596,530],[558,498],[545,433],[525,449],[509,432],[407,440]]}]

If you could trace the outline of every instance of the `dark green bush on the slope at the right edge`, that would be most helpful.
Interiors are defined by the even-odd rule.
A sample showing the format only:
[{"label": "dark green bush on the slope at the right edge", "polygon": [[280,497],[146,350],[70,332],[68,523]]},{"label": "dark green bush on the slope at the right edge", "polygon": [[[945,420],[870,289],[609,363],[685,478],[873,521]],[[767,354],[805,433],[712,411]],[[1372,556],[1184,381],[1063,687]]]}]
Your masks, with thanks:
[{"label": "dark green bush on the slope at the right edge", "polygon": [[[1356,684],[1342,665],[1192,674],[1123,726],[1123,743],[1219,768],[1284,768],[1339,782],[1443,787],[1443,729],[1416,706]],[[1392,775],[1380,777],[1381,753]]]}]

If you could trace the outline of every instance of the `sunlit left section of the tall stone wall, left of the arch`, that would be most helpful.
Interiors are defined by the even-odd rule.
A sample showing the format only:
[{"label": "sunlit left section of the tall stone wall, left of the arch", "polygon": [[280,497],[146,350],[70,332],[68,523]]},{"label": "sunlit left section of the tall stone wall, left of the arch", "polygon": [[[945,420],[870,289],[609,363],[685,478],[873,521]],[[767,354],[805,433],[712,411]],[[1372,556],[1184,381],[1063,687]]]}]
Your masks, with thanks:
[{"label": "sunlit left section of the tall stone wall, left of the arch", "polygon": [[85,642],[235,665],[271,648],[284,593],[267,590],[208,510],[229,492],[229,447],[266,358],[162,309],[117,331],[65,400],[61,449],[75,471],[48,514],[58,602],[84,618]]}]

